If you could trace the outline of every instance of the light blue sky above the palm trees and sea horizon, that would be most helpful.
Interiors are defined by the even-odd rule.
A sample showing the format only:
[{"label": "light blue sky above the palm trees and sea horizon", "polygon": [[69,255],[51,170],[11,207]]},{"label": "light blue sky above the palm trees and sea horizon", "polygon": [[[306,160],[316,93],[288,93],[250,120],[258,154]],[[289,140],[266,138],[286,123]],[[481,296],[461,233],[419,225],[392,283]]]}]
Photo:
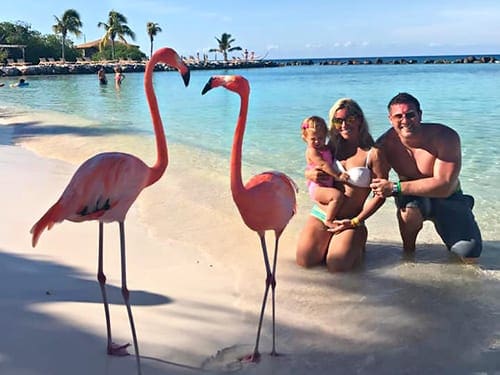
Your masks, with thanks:
[{"label": "light blue sky above the palm trees and sea horizon", "polygon": [[500,54],[498,0],[10,0],[0,22],[52,34],[54,16],[71,8],[83,22],[83,35],[69,36],[75,44],[100,39],[97,23],[115,10],[136,33],[129,42],[147,55],[147,22],[162,28],[154,48],[211,59],[222,33],[269,59]]}]

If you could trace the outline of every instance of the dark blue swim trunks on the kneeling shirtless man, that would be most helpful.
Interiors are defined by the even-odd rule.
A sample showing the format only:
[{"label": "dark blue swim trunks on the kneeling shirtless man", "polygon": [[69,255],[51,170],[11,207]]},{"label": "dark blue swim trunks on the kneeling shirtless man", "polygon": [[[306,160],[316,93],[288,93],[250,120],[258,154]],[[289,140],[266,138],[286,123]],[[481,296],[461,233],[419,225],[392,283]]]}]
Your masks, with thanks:
[{"label": "dark blue swim trunks on the kneeling shirtless man", "polygon": [[465,258],[477,258],[483,250],[481,232],[472,213],[474,198],[461,190],[448,198],[395,196],[398,208],[417,207],[424,220],[434,223],[448,250]]}]

